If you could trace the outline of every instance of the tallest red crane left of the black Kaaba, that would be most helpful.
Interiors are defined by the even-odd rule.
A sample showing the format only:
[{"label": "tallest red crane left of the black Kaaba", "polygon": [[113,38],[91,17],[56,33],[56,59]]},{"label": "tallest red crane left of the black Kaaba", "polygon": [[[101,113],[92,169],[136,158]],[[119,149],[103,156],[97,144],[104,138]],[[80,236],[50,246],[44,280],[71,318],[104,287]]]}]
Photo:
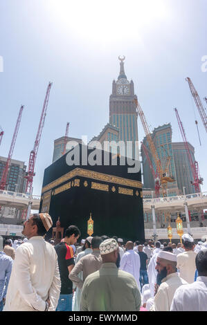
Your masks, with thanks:
[{"label": "tallest red crane left of the black Kaaba", "polygon": [[44,99],[44,105],[43,105],[43,108],[42,108],[42,115],[41,115],[41,118],[40,118],[40,121],[39,121],[39,127],[38,127],[38,130],[37,130],[37,136],[36,136],[36,139],[35,139],[35,145],[34,145],[34,148],[33,150],[30,152],[30,159],[29,159],[29,163],[28,163],[28,171],[26,173],[26,190],[25,192],[26,193],[30,193],[32,194],[32,189],[33,189],[33,177],[35,176],[35,162],[36,162],[36,158],[37,158],[37,151],[38,151],[38,148],[39,148],[39,142],[40,142],[40,138],[41,138],[41,135],[42,135],[42,129],[44,127],[44,120],[45,120],[45,117],[46,117],[46,109],[47,109],[47,106],[48,106],[48,99],[49,99],[49,95],[50,95],[50,91],[51,91],[51,86],[52,86],[52,83],[49,82],[48,84],[48,88],[47,88],[47,91],[46,91],[46,96],[45,96],[45,99]]}]

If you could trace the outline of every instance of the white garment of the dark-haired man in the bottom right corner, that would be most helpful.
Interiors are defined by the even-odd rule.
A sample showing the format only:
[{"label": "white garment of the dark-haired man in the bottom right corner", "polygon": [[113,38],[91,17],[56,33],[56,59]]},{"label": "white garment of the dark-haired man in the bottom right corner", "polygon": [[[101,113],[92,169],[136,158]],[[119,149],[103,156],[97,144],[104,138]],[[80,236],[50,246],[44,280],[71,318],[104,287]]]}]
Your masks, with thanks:
[{"label": "white garment of the dark-haired man in the bottom right corner", "polygon": [[207,277],[180,286],[174,293],[170,311],[207,311]]}]

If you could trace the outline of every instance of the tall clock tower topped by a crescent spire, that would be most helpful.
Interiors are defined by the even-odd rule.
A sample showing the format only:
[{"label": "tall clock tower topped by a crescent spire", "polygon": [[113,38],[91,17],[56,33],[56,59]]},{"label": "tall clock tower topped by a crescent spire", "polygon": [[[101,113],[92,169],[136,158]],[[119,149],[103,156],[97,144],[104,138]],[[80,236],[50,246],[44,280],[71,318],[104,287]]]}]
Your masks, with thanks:
[{"label": "tall clock tower topped by a crescent spire", "polygon": [[[132,142],[132,149],[127,156],[138,159],[137,99],[134,95],[134,82],[127,80],[124,69],[125,56],[120,60],[120,73],[117,81],[113,81],[112,94],[109,99],[109,122],[119,129],[119,140],[127,144]],[[135,150],[136,148],[136,150]]]}]

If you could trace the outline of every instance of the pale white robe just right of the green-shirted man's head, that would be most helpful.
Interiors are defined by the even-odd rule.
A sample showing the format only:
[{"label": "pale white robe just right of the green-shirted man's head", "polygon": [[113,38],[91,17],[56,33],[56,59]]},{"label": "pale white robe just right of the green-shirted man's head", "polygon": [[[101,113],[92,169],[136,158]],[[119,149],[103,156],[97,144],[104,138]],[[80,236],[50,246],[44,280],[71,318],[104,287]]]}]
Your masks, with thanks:
[{"label": "pale white robe just right of the green-shirted man's head", "polygon": [[134,250],[127,250],[127,252],[123,254],[123,258],[120,260],[120,270],[126,271],[131,275],[134,275],[139,290],[141,290],[139,282],[140,266],[141,263],[139,254],[134,252]]}]

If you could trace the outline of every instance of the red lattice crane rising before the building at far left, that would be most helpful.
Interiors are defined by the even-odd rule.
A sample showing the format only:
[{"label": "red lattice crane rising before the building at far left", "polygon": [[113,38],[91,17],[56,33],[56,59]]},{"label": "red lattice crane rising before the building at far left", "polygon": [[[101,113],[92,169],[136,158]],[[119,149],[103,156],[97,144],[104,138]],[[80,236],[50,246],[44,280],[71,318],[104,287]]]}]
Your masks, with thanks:
[{"label": "red lattice crane rising before the building at far left", "polygon": [[19,124],[21,122],[21,115],[22,115],[23,109],[24,109],[24,106],[21,105],[20,110],[19,110],[19,115],[18,115],[18,118],[17,118],[17,123],[16,123],[16,126],[15,126],[15,132],[14,132],[13,138],[12,138],[12,143],[10,145],[10,151],[8,153],[8,158],[6,160],[6,166],[3,169],[3,174],[2,174],[2,177],[1,177],[1,183],[0,183],[0,189],[5,189],[5,187],[6,187],[8,169],[9,169],[10,161],[12,159],[12,154],[13,154],[13,151],[14,151],[14,148],[15,148],[15,142],[16,142],[16,139],[17,139],[17,133],[19,131]]}]

